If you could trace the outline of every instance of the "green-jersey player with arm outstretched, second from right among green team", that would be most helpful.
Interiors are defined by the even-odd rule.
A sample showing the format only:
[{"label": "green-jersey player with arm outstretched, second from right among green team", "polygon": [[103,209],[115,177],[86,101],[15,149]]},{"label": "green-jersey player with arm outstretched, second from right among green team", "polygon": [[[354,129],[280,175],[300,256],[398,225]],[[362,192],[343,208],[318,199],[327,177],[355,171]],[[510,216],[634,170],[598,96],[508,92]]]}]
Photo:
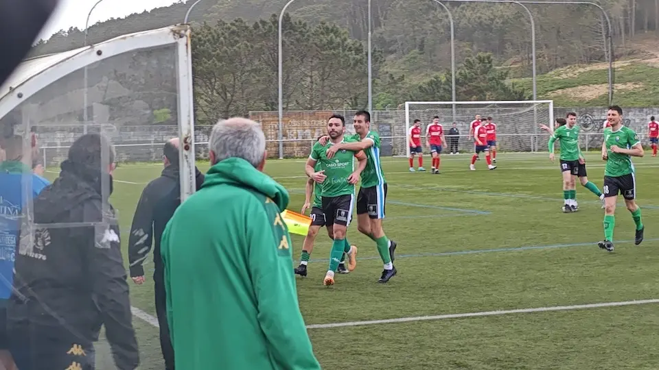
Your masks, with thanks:
[{"label": "green-jersey player with arm outstretched, second from right among green team", "polygon": [[[581,154],[579,148],[579,126],[577,126],[577,114],[575,112],[568,112],[566,119],[556,119],[558,127],[554,132],[546,125],[541,125],[540,128],[552,134],[549,138],[549,159],[554,161],[554,142],[560,140],[561,147],[561,171],[563,173],[563,212],[577,212],[579,204],[577,204],[577,190],[575,178],[579,177],[579,183],[590,190],[594,195],[597,195],[601,201],[604,200],[604,195],[597,188],[597,185],[588,180],[588,173],[586,172],[586,159]],[[604,208],[602,204],[602,208]]]}]

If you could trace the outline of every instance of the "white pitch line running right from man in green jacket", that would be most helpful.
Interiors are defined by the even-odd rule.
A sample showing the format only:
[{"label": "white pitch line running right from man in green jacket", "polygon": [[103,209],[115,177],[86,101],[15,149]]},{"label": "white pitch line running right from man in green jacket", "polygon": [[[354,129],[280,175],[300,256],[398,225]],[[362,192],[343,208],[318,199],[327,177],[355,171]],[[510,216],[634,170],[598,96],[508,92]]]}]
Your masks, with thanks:
[{"label": "white pitch line running right from man in green jacket", "polygon": [[461,314],[439,314],[435,316],[401,317],[399,319],[352,321],[348,323],[312,324],[312,325],[307,325],[307,329],[340,328],[342,326],[375,325],[375,324],[383,324],[383,323],[406,323],[410,321],[462,319],[465,317],[484,317],[484,316],[496,316],[501,314],[518,314],[518,313],[530,313],[530,312],[584,310],[588,308],[633,306],[639,304],[656,304],[656,303],[659,303],[659,299],[643,299],[640,301],[608,302],[608,303],[599,303],[599,304],[578,304],[575,306],[522,308],[520,310],[498,310],[498,311],[470,312],[470,313],[461,313]]}]

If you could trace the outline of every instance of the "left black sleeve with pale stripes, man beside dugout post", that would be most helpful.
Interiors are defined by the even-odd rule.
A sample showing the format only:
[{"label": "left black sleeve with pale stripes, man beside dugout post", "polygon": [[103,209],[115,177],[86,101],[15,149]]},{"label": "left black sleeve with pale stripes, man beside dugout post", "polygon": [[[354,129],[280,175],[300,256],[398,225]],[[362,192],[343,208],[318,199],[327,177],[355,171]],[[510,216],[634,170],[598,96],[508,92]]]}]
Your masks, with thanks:
[{"label": "left black sleeve with pale stripes, man beside dugout post", "polygon": [[[142,263],[148,258],[151,251],[154,206],[154,192],[151,184],[142,190],[137,208],[135,208],[135,216],[132,217],[132,226],[130,226],[130,236],[128,237],[130,277],[144,277]],[[135,282],[141,284],[137,280]]]}]

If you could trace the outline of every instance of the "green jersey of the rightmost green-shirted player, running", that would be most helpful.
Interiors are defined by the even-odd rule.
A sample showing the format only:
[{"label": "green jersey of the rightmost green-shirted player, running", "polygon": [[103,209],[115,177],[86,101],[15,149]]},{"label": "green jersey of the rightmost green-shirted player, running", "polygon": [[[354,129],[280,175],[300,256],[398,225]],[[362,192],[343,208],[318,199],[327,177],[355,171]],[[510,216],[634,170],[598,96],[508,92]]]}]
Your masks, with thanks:
[{"label": "green jersey of the rightmost green-shirted player, running", "polygon": [[610,127],[604,129],[604,143],[608,160],[604,168],[604,175],[609,177],[620,177],[634,173],[634,164],[628,154],[613,153],[612,145],[617,145],[622,149],[630,149],[640,143],[636,138],[636,132],[629,127],[621,126],[618,131],[612,131]]}]

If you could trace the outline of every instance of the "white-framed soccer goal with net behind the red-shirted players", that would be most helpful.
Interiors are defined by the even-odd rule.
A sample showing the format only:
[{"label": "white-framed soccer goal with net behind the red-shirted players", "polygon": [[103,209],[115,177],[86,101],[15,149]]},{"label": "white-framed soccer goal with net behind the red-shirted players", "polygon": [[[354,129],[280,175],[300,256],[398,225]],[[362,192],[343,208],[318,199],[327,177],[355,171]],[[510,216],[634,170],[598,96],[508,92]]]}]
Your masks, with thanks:
[{"label": "white-framed soccer goal with net behind the red-shirted players", "polygon": [[[540,125],[551,127],[554,122],[554,102],[552,100],[535,101],[406,101],[405,133],[408,135],[414,121],[421,120],[421,145],[426,145],[426,127],[439,116],[443,125],[446,145],[443,151],[453,151],[451,144],[457,145],[458,151],[471,152],[474,140],[470,137],[470,127],[476,116],[484,121],[492,117],[496,124],[496,146],[498,151],[534,153],[546,151],[548,134],[540,130]],[[459,131],[458,138],[450,137],[449,130],[453,123]],[[407,143],[407,140],[406,140]],[[410,147],[407,147],[409,156]]]}]

